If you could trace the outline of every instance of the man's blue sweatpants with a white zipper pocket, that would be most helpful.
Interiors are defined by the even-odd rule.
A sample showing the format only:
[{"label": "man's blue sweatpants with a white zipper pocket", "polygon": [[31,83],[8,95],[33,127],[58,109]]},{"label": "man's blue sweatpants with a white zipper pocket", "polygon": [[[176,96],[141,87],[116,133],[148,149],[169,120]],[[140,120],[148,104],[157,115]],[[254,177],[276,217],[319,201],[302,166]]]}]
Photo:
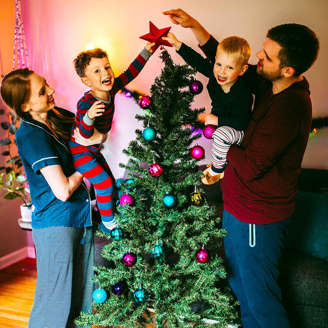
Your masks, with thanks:
[{"label": "man's blue sweatpants with a white zipper pocket", "polygon": [[240,303],[243,328],[290,328],[277,283],[289,223],[249,224],[223,212],[227,276]]}]

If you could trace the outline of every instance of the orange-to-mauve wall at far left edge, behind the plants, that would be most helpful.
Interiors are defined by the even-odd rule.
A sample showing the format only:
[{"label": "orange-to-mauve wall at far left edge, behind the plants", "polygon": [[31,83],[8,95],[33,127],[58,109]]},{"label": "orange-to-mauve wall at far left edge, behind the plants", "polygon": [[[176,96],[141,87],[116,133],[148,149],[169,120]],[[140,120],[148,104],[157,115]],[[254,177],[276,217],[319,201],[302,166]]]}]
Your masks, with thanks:
[{"label": "orange-to-mauve wall at far left edge, behind the plants", "polygon": [[[15,27],[15,2],[13,0],[1,0],[0,10],[0,73],[1,75],[12,69],[12,49]],[[0,101],[0,108],[4,108]],[[6,115],[0,115],[0,122],[6,121]],[[0,139],[6,138],[7,132],[0,128]],[[5,166],[5,158],[1,155],[7,150],[7,146],[0,146],[0,166]],[[2,171],[3,172],[3,171]],[[0,190],[0,257],[10,254],[27,246],[27,234],[17,223],[20,217],[20,199],[4,200],[6,192]]]}]

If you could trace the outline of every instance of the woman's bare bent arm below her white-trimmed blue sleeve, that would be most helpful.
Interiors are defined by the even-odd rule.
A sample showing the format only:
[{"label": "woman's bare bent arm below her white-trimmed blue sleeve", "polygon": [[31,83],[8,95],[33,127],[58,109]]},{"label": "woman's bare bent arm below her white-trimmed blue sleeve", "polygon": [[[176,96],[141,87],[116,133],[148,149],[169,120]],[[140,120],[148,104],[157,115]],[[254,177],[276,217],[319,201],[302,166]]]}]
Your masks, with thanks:
[{"label": "woman's bare bent arm below her white-trimmed blue sleeve", "polygon": [[49,165],[40,169],[41,174],[48,182],[53,194],[65,202],[81,184],[83,175],[74,172],[66,177],[60,165]]}]

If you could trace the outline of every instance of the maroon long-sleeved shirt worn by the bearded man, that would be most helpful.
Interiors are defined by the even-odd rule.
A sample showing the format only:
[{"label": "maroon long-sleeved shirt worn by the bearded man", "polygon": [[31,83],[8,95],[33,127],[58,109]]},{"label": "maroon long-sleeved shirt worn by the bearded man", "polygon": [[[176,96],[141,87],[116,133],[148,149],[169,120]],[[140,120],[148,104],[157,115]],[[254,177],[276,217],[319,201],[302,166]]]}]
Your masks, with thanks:
[{"label": "maroon long-sleeved shirt worn by the bearded man", "polygon": [[[213,61],[218,42],[200,48]],[[251,224],[284,220],[295,210],[296,183],[309,138],[312,104],[304,78],[273,94],[272,82],[249,65],[242,75],[255,95],[240,146],[232,145],[221,185],[224,209]]]}]

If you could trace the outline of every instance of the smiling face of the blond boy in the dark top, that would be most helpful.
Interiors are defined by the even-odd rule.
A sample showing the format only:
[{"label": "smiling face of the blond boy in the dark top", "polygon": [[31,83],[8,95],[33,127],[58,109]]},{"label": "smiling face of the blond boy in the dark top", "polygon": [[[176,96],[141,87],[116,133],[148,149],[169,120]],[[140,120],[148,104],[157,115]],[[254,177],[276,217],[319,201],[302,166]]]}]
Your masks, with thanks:
[{"label": "smiling face of the blond boy in the dark top", "polygon": [[226,52],[218,50],[213,69],[217,83],[224,92],[229,92],[230,87],[236,82],[239,75],[246,72],[248,65],[242,65],[239,58],[229,56]]}]

